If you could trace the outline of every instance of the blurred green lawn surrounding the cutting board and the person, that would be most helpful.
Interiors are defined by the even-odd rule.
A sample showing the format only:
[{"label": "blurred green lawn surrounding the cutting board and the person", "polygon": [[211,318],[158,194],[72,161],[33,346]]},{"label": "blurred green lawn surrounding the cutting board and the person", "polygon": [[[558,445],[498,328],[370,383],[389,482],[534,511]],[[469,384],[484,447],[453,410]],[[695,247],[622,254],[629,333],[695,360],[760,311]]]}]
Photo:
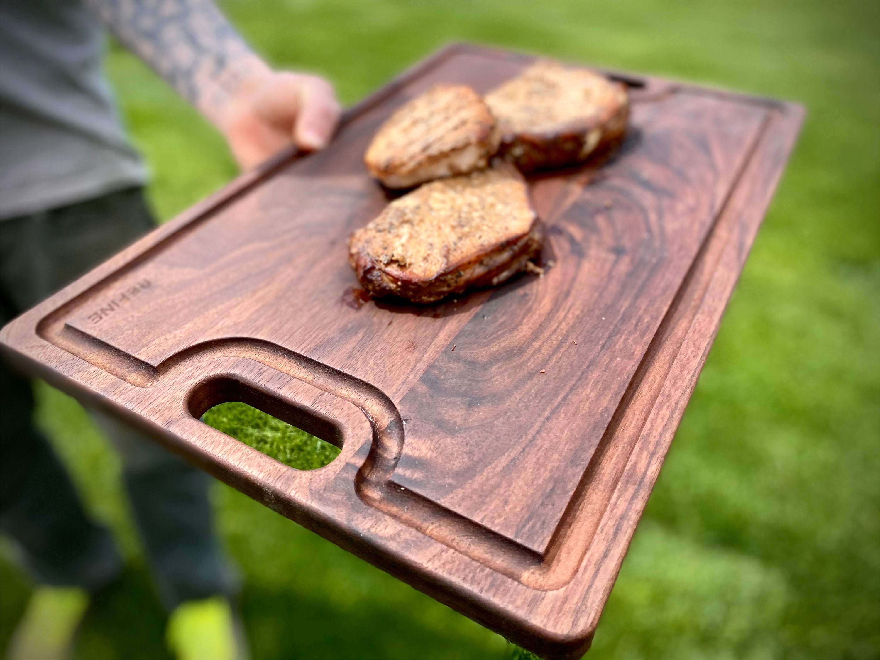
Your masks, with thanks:
[{"label": "blurred green lawn surrounding the cutting board and the person", "polygon": [[[350,104],[450,40],[802,102],[808,117],[588,658],[880,656],[880,3],[227,2],[279,67]],[[107,70],[162,219],[236,173],[150,70]],[[119,485],[77,405],[55,437],[128,558],[77,656],[161,658],[164,615]],[[504,658],[501,637],[222,485],[256,660]],[[0,562],[0,644],[28,584]]]}]

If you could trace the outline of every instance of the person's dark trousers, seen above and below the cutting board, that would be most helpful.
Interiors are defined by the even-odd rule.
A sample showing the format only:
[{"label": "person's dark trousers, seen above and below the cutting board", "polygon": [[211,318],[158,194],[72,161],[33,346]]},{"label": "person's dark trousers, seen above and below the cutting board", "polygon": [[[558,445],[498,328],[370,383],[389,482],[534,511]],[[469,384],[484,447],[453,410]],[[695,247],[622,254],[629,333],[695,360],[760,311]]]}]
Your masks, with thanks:
[{"label": "person's dark trousers, seen above and below the cutting board", "polygon": [[[0,322],[153,226],[140,188],[0,221]],[[212,527],[209,477],[135,429],[91,414],[120,454],[128,498],[165,605],[232,595],[236,579]],[[3,363],[0,532],[15,540],[38,583],[95,590],[121,569],[109,533],[84,512],[70,477],[33,425],[31,384]]]}]

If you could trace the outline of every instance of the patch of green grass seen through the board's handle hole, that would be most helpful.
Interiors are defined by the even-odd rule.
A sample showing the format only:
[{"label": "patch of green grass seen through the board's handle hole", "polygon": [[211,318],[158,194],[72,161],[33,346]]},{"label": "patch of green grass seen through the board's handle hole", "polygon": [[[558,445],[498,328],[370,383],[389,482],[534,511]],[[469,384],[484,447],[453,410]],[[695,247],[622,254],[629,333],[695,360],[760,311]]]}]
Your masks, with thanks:
[{"label": "patch of green grass seen through the board's handle hole", "polygon": [[326,466],[339,447],[240,401],[212,407],[202,422],[297,470]]}]

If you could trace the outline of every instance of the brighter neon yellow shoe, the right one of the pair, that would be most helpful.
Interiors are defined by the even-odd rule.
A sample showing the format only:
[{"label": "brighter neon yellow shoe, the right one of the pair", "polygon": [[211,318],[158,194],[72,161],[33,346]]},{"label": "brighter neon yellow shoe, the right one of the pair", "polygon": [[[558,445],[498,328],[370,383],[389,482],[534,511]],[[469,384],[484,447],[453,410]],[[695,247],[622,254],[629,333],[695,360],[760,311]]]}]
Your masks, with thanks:
[{"label": "brighter neon yellow shoe, the right one of the pair", "polygon": [[178,605],[165,639],[178,660],[246,660],[243,633],[229,601],[215,596]]}]

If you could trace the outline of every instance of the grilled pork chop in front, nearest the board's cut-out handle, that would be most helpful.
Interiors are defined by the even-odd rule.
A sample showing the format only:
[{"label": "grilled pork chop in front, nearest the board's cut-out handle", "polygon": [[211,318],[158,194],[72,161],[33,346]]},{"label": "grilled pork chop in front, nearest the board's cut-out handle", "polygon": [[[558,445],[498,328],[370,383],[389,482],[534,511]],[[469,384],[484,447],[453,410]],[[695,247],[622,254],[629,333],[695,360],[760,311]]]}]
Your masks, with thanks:
[{"label": "grilled pork chop in front, nearest the board's cut-out handle", "polygon": [[510,165],[427,183],[348,238],[348,260],[375,297],[431,303],[527,268],[543,233]]}]

